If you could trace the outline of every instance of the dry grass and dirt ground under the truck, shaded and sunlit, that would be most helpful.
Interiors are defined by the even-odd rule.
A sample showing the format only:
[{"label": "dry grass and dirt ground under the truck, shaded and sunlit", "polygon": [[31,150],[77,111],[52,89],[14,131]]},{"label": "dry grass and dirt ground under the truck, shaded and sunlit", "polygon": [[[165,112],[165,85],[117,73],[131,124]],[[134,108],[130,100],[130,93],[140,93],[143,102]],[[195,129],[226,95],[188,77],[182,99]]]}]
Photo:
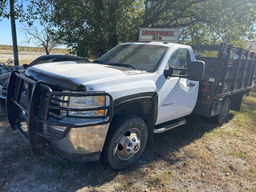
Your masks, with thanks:
[{"label": "dry grass and dirt ground under the truck, shaded and sunlit", "polygon": [[256,191],[256,92],[223,126],[198,115],[155,135],[155,146],[126,170],[78,163],[49,147],[42,158],[0,113],[0,191]]}]

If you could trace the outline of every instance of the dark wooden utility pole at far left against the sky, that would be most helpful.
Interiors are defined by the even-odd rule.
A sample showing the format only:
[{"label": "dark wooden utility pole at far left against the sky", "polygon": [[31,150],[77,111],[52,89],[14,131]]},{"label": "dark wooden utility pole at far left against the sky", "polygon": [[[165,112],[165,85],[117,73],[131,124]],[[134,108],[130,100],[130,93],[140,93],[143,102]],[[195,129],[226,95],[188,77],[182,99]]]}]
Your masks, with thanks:
[{"label": "dark wooden utility pole at far left against the sky", "polygon": [[18,46],[17,46],[17,34],[15,25],[15,15],[14,15],[14,0],[10,0],[10,15],[11,15],[11,26],[12,26],[12,49],[14,55],[14,65],[19,65],[18,58]]}]

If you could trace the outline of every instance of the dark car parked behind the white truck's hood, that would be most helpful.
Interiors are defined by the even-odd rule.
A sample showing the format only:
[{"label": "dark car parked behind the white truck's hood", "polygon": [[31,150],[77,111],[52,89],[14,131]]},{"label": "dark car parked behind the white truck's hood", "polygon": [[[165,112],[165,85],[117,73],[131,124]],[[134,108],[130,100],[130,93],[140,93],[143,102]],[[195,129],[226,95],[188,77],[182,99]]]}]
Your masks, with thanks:
[{"label": "dark car parked behind the white truck's hood", "polygon": [[[32,61],[29,65],[23,64],[23,68],[26,70],[29,67],[39,65],[42,63],[49,63],[49,62],[59,62],[59,61],[85,61],[90,62],[89,60],[81,57],[75,57],[72,55],[58,55],[58,54],[52,54],[52,55],[42,55]],[[0,100],[2,102],[5,102],[6,99],[6,91],[7,91],[7,85],[8,85],[8,79],[10,77],[11,73],[6,73],[0,76]]]}]

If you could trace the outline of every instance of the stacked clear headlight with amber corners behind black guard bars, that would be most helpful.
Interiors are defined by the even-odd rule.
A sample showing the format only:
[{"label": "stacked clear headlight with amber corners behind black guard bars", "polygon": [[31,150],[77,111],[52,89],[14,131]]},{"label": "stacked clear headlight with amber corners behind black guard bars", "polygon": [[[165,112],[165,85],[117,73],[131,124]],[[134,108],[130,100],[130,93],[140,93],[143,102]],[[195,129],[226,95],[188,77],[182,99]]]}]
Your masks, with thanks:
[{"label": "stacked clear headlight with amber corners behind black guard bars", "polygon": [[[106,106],[106,97],[104,95],[94,97],[70,97],[69,107],[71,108],[93,108]],[[68,111],[69,116],[100,116],[105,115],[105,110],[90,111]]]}]

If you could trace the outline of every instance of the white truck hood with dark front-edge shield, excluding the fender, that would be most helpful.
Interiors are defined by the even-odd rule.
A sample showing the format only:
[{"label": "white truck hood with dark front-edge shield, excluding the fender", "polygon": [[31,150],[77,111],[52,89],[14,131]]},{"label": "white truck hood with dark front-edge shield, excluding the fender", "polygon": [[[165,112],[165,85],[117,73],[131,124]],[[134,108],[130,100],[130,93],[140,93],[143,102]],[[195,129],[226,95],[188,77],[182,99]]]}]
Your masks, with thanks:
[{"label": "white truck hood with dark front-edge shield, excluding the fender", "polygon": [[[129,70],[129,69],[127,69]],[[26,70],[26,76],[62,90],[86,90],[91,82],[127,76],[124,71],[97,63],[52,62]]]}]

